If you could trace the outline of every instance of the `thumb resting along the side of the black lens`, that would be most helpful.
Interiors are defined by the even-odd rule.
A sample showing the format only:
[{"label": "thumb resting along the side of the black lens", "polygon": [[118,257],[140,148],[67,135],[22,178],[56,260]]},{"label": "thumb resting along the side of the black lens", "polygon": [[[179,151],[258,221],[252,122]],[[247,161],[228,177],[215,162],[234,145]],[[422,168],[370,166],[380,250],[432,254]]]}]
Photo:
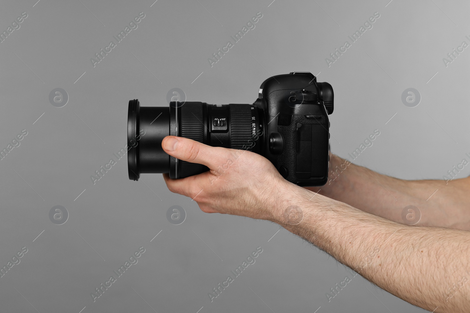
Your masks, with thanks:
[{"label": "thumb resting along the side of the black lens", "polygon": [[166,136],[162,140],[162,148],[177,159],[203,164],[209,168],[216,168],[232,157],[229,149],[204,145],[184,137]]}]

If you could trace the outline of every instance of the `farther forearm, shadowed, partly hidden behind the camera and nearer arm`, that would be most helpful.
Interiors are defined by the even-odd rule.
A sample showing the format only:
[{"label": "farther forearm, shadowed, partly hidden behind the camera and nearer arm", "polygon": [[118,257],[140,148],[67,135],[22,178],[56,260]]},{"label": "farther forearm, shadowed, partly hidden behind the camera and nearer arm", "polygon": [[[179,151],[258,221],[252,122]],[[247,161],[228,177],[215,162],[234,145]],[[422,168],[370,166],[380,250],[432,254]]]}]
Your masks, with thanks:
[{"label": "farther forearm, shadowed, partly hidden behind the camera and nearer arm", "polygon": [[416,206],[421,211],[417,226],[470,230],[468,182],[457,179],[406,181],[378,174],[331,154],[329,182],[318,188],[329,198],[362,211],[404,223],[402,211]]}]

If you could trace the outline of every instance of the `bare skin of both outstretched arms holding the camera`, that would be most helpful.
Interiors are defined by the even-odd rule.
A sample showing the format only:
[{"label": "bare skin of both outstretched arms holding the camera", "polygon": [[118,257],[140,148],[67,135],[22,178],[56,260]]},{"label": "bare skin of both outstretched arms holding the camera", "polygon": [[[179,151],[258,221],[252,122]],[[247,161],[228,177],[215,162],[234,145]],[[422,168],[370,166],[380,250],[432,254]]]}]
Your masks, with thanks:
[{"label": "bare skin of both outstretched arms holding the camera", "polygon": [[[162,146],[210,168],[177,180],[164,174],[170,191],[194,198],[202,211],[273,221],[413,305],[470,311],[468,179],[404,181],[349,164],[309,191],[256,153],[172,136]],[[332,155],[330,168],[341,162]],[[402,224],[408,205],[420,208],[419,226]]]}]

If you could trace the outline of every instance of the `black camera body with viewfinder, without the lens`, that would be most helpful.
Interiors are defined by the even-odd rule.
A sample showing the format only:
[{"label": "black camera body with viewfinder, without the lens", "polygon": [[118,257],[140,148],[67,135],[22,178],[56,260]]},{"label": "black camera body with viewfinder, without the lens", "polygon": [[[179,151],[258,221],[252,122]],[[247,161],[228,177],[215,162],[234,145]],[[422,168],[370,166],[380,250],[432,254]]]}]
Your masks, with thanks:
[{"label": "black camera body with viewfinder, without the lens", "polygon": [[329,119],[333,89],[308,72],[266,79],[254,105],[265,112],[265,157],[299,186],[328,181]]}]

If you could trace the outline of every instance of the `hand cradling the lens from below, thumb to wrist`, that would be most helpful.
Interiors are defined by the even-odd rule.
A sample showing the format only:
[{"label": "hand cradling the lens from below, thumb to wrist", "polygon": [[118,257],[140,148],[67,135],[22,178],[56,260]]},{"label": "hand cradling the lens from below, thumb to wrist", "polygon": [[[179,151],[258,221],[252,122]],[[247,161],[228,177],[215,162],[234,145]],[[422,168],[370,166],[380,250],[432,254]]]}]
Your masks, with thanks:
[{"label": "hand cradling the lens from below, thumb to wrist", "polygon": [[206,213],[273,220],[279,195],[291,185],[269,160],[256,153],[211,147],[174,136],[165,137],[162,147],[177,159],[204,164],[210,169],[182,179],[164,174],[170,191],[194,199]]}]

